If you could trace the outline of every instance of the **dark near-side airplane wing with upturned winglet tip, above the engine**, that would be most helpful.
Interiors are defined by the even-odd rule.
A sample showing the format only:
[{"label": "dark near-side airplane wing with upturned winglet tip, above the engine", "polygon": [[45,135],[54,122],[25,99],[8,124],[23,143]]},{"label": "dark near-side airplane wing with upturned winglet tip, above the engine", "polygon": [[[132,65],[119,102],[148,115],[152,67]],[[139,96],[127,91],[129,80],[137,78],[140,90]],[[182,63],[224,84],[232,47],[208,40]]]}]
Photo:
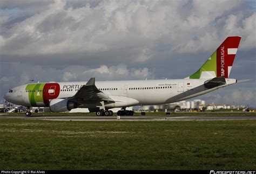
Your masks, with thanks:
[{"label": "dark near-side airplane wing with upturned winglet tip, above the engine", "polygon": [[95,78],[91,78],[86,85],[82,86],[79,91],[72,96],[70,101],[77,103],[97,103],[105,101],[108,103],[114,103],[114,100],[104,94],[95,86]]}]

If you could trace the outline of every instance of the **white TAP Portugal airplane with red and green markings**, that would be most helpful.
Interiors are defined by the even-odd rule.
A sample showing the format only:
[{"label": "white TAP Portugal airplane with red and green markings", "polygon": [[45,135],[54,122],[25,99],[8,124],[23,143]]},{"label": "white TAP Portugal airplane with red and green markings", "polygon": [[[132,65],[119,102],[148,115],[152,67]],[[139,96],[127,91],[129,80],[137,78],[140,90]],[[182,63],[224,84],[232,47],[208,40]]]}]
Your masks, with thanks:
[{"label": "white TAP Portugal airplane with red and green markings", "polygon": [[227,37],[197,72],[185,79],[125,80],[87,82],[29,83],[14,87],[4,99],[27,108],[49,107],[51,112],[68,112],[88,108],[97,116],[112,116],[112,108],[121,108],[117,115],[133,115],[126,107],[164,105],[186,100],[237,83],[230,79],[231,68],[240,43],[240,36]]}]

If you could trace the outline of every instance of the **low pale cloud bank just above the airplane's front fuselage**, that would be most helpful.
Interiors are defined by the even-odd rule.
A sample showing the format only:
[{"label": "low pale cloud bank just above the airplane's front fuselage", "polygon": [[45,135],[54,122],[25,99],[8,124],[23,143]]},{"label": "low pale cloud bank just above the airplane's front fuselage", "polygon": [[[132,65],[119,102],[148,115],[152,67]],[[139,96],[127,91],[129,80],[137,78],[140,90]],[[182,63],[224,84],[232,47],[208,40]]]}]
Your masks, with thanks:
[{"label": "low pale cloud bank just above the airplane's front fuselage", "polygon": [[[9,72],[8,69],[12,71]],[[24,71],[27,69],[27,71]],[[7,84],[10,87],[23,85],[31,82],[49,82],[49,81],[87,81],[95,77],[97,81],[104,80],[133,80],[133,79],[154,79],[155,74],[148,68],[127,68],[126,65],[106,66],[101,65],[98,68],[89,68],[85,66],[68,66],[65,68],[44,67],[41,65],[30,66],[19,62],[5,63],[0,79],[1,84]],[[1,91],[2,92],[2,91]]]}]

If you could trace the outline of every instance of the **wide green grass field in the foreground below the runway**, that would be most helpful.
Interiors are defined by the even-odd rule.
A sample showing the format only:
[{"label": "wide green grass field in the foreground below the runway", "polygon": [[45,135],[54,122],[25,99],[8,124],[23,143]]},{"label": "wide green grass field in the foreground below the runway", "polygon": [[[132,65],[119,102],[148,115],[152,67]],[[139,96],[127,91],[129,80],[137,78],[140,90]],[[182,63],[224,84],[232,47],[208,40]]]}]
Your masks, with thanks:
[{"label": "wide green grass field in the foreground below the runway", "polygon": [[255,170],[256,121],[0,120],[1,170]]}]

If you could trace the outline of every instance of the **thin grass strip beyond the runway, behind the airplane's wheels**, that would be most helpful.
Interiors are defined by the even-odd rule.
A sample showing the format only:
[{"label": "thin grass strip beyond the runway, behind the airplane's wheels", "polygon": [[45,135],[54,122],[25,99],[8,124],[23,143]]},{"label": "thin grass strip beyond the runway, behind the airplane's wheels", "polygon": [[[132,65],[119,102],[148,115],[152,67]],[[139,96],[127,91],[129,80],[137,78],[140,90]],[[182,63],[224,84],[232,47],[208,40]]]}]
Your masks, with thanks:
[{"label": "thin grass strip beyond the runway, behind the airplane's wheels", "polygon": [[[3,113],[6,116],[25,116],[25,113]],[[134,113],[134,116],[141,116],[139,112]],[[96,116],[95,113],[32,113],[31,116]],[[117,113],[114,113],[117,116]],[[145,116],[256,116],[256,112],[172,112],[171,115],[166,115],[165,112],[146,112]]]}]

